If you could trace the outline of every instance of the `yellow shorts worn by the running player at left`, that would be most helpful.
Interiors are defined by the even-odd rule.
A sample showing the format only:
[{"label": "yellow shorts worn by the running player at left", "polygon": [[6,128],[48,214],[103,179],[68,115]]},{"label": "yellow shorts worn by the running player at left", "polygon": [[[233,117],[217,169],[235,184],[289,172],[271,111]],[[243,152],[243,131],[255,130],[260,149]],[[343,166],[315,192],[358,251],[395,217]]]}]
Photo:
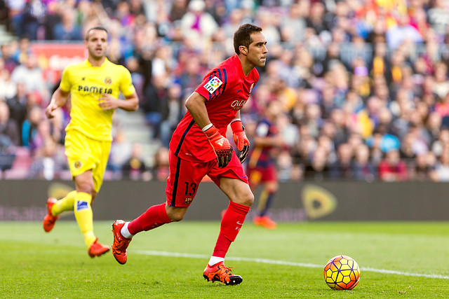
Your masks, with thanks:
[{"label": "yellow shorts worn by the running player at left", "polygon": [[78,130],[69,130],[65,136],[65,155],[72,178],[92,170],[95,191],[100,191],[110,150],[111,141],[91,139]]}]

